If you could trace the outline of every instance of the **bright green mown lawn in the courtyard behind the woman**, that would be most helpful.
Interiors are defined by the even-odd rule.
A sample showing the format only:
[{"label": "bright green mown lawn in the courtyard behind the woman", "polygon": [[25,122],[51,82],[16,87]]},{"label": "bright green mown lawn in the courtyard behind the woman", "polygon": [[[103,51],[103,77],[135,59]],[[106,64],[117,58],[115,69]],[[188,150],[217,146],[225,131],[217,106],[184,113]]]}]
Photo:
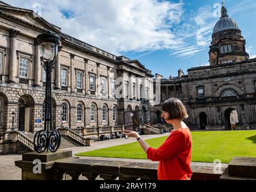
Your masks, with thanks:
[{"label": "bright green mown lawn in the courtyard behind the woman", "polygon": [[[166,137],[146,140],[153,148],[159,147]],[[256,157],[256,131],[192,131],[192,161],[211,162],[219,159],[229,163],[233,157]],[[95,151],[78,156],[147,158],[138,142]]]}]

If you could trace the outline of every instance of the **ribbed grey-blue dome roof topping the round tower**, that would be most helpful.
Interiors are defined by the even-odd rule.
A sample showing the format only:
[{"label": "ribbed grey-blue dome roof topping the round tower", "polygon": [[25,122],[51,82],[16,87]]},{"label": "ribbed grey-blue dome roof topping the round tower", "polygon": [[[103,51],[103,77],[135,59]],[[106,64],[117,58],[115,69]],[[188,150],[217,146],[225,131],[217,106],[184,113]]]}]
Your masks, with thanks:
[{"label": "ribbed grey-blue dome roof topping the round tower", "polygon": [[227,29],[239,29],[237,22],[234,19],[231,19],[227,14],[227,9],[224,5],[221,8],[221,19],[215,24],[213,29],[213,34],[216,32],[227,30]]}]

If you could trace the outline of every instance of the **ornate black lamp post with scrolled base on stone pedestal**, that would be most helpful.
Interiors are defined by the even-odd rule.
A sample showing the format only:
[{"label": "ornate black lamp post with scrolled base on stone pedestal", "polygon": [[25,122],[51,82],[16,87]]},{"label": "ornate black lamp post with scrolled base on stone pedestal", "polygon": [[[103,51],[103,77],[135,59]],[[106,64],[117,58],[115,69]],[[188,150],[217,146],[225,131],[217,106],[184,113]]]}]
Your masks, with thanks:
[{"label": "ornate black lamp post with scrolled base on stone pedestal", "polygon": [[61,137],[57,130],[52,128],[52,71],[55,65],[55,57],[61,38],[47,32],[37,36],[37,43],[43,60],[43,69],[46,71],[46,91],[44,102],[44,130],[38,131],[34,137],[34,149],[38,153],[46,151],[55,152],[61,143]]}]

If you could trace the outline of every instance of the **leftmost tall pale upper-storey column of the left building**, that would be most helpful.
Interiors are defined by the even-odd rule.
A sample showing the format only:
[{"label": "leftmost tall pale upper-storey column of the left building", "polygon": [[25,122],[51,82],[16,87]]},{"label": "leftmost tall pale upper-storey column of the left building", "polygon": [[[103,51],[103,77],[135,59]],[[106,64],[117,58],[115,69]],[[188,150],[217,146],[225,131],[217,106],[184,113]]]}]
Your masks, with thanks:
[{"label": "leftmost tall pale upper-storey column of the left building", "polygon": [[17,74],[17,35],[19,31],[11,29],[10,31],[10,64],[9,64],[9,82],[16,82],[16,74]]}]

